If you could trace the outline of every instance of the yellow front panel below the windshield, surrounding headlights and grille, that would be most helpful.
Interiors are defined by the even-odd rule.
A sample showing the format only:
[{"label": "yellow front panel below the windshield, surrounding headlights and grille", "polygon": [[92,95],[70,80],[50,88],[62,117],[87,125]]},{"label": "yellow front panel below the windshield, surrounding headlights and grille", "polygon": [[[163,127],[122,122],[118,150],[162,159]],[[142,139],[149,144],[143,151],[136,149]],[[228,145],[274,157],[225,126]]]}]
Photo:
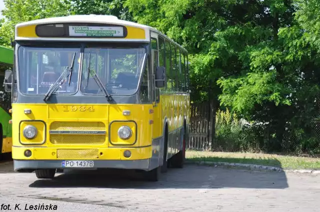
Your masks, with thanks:
[{"label": "yellow front panel below the windshield, surrounding headlights and grille", "polygon": [[[24,109],[30,109],[31,113],[24,114]],[[28,160],[60,159],[57,158],[57,150],[59,149],[95,149],[97,151],[97,160],[150,158],[152,154],[152,125],[149,124],[152,114],[149,114],[150,109],[152,109],[151,104],[12,104],[12,130],[14,132],[12,136],[12,158]],[[123,115],[123,110],[129,110],[130,115]],[[111,132],[109,132],[108,126],[111,122]],[[43,123],[45,123],[45,127]],[[33,140],[27,140],[23,137],[23,128],[28,124],[32,124],[38,129],[38,134]],[[122,140],[121,142],[117,138],[117,130],[122,125],[130,126],[133,134],[129,140]],[[106,133],[105,135],[50,134],[49,130],[104,130]],[[114,145],[109,142],[109,135],[111,136],[111,141],[114,141]],[[102,140],[101,136],[103,137]],[[44,137],[45,142],[40,144]],[[113,139],[113,137],[115,138]],[[137,148],[145,146],[147,147]],[[26,149],[32,151],[30,158],[26,158],[23,155],[23,151]],[[130,158],[122,156],[125,150],[131,151]],[[63,153],[61,154],[63,155]],[[74,154],[73,156],[72,154],[69,154],[70,158],[74,159]],[[83,156],[81,154],[78,155],[77,159],[81,158],[83,159]]]}]

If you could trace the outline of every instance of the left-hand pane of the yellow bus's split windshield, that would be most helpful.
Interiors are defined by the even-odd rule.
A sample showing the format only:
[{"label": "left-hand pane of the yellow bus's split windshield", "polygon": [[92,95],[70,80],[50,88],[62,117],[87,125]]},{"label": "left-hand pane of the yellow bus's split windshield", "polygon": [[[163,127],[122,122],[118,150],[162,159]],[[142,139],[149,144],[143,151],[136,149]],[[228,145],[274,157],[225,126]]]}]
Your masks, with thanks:
[{"label": "left-hand pane of the yellow bus's split windshield", "polygon": [[70,67],[74,53],[71,78],[69,79],[70,75],[67,75],[61,79],[60,85],[54,91],[56,95],[70,95],[76,92],[80,45],[78,47],[20,46],[18,48],[20,92],[28,95],[44,95],[62,72]]}]

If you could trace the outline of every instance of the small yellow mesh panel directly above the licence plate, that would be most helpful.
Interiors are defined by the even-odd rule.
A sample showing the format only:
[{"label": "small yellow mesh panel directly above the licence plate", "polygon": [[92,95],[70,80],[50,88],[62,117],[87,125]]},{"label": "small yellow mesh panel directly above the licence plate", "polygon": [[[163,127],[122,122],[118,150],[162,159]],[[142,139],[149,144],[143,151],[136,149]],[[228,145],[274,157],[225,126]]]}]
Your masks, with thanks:
[{"label": "small yellow mesh panel directly above the licence plate", "polygon": [[96,159],[98,158],[97,149],[82,149],[82,150],[67,150],[67,149],[58,149],[56,150],[57,159]]}]

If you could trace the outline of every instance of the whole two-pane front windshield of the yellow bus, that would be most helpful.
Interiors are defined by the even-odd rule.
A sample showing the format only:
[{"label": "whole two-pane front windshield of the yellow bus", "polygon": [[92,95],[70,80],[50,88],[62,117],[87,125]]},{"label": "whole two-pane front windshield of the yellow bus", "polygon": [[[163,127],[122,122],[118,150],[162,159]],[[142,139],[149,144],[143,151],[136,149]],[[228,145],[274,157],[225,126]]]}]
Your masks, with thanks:
[{"label": "whole two-pane front windshield of the yellow bus", "polygon": [[[84,51],[84,52],[83,52]],[[80,52],[83,52],[81,58]],[[44,95],[64,70],[71,71],[54,89],[55,95],[72,95],[77,91],[79,73],[82,95],[132,95],[137,91],[146,60],[146,47],[141,44],[86,46],[39,44],[18,48],[19,90],[26,95]],[[82,61],[82,66],[81,64]],[[90,65],[88,65],[90,63]],[[101,82],[101,84],[99,83]],[[102,86],[103,87],[102,87]]]}]

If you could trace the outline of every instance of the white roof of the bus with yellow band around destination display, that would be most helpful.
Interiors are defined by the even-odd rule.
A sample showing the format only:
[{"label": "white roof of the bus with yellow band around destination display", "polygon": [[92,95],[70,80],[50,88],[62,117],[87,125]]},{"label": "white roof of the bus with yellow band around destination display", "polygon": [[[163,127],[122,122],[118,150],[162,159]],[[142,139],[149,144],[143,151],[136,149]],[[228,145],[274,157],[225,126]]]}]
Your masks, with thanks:
[{"label": "white roof of the bus with yellow band around destination display", "polygon": [[[58,23],[64,23],[68,25],[74,25],[74,23],[91,23],[93,25],[103,26],[103,24],[109,24],[115,26],[125,26],[127,29],[127,35],[126,37],[71,37],[70,35],[59,37],[59,36],[38,36],[36,33],[36,26],[37,25],[43,25],[43,24],[58,24]],[[15,25],[15,40],[77,40],[77,41],[84,41],[84,40],[91,40],[91,41],[144,41],[149,42],[150,41],[150,31],[154,31],[166,39],[173,42],[175,45],[179,46],[184,49],[181,45],[174,42],[172,39],[168,38],[166,35],[158,31],[157,29],[131,22],[126,20],[118,19],[116,16],[113,15],[95,15],[95,14],[89,14],[89,15],[69,15],[69,16],[61,16],[61,17],[50,17],[50,18],[43,18],[43,19],[37,19],[37,20],[31,20],[27,22],[18,23]],[[121,39],[125,38],[125,39]]]}]

